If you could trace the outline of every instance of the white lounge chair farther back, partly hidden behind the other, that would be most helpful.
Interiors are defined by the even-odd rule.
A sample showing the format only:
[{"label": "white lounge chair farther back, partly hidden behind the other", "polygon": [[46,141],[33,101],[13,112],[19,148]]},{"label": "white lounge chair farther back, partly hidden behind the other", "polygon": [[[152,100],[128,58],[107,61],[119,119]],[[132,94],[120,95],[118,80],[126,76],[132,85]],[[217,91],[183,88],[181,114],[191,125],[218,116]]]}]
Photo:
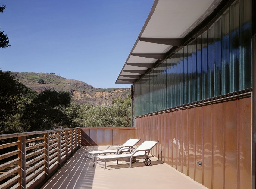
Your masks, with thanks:
[{"label": "white lounge chair farther back, partly hidden behind the other", "polygon": [[[98,150],[98,151],[89,151],[87,153],[95,156],[95,155],[106,155],[106,154],[117,154],[120,150],[122,152],[132,152],[133,146],[137,144],[140,141],[140,139],[128,139],[123,145],[117,144],[117,145],[109,145],[106,150]],[[116,149],[108,150],[110,147],[116,147]]]}]

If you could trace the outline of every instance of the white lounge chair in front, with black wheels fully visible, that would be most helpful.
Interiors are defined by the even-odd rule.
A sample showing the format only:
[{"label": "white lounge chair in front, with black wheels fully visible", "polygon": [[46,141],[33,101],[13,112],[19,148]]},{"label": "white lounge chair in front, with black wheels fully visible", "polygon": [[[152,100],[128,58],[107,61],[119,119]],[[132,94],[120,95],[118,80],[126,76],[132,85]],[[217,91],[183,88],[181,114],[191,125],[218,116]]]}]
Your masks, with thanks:
[{"label": "white lounge chair in front, with black wheels fully visible", "polygon": [[[132,153],[129,153],[129,154],[120,154],[122,152],[122,150],[120,150],[118,154],[115,154],[115,155],[95,156],[93,167],[94,167],[94,164],[99,164],[99,165],[105,166],[104,170],[106,170],[106,164],[108,160],[117,160],[117,164],[118,164],[118,159],[128,159],[128,158],[130,159],[130,167],[132,167],[132,163],[135,163],[138,157],[140,158],[145,157],[144,164],[146,166],[149,166],[151,164],[151,160],[148,158],[149,152],[157,143],[158,141],[145,140],[138,148],[136,148]],[[100,160],[101,159],[105,160],[105,165],[96,162],[97,158],[99,158]]]}]

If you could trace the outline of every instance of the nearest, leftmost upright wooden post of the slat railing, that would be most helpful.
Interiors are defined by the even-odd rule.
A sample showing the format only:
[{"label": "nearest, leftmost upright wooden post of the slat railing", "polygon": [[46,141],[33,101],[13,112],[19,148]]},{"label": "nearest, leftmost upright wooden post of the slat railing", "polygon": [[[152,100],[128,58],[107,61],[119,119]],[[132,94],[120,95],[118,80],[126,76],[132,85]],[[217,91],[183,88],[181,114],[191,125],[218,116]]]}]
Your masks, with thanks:
[{"label": "nearest, leftmost upright wooden post of the slat railing", "polygon": [[20,153],[18,154],[18,158],[20,158],[18,162],[18,166],[20,166],[20,169],[18,171],[18,175],[20,176],[20,179],[18,180],[18,183],[20,184],[20,187],[22,189],[26,188],[26,136],[18,137],[18,150],[20,150]]}]

